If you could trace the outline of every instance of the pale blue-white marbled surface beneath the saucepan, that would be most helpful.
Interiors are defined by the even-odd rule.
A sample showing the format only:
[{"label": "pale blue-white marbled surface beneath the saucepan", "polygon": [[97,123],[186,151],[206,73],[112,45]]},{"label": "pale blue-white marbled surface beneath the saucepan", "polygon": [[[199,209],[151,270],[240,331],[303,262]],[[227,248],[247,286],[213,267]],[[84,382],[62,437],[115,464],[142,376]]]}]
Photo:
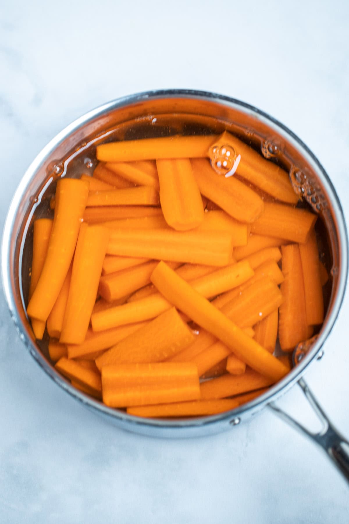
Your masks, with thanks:
[{"label": "pale blue-white marbled surface beneath the saucepan", "polygon": [[[284,122],[318,156],[349,215],[349,4],[4,2],[0,226],[22,173],[77,116],[156,88],[217,91]],[[307,380],[349,434],[346,297]],[[348,521],[328,459],[265,410],[232,431],[159,440],[83,409],[29,356],[0,297],[0,522]],[[301,418],[297,390],[280,403]]]}]

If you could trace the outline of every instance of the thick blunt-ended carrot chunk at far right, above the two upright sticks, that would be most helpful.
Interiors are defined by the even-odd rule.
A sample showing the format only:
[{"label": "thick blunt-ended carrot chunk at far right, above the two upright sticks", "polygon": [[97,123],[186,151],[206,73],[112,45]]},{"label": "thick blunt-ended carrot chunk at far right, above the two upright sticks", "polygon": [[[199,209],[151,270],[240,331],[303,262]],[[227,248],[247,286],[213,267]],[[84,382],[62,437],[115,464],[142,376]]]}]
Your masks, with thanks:
[{"label": "thick blunt-ended carrot chunk at far right, above the two upright sticks", "polygon": [[251,225],[251,232],[284,238],[291,242],[307,242],[317,215],[289,205],[265,202],[263,214]]}]

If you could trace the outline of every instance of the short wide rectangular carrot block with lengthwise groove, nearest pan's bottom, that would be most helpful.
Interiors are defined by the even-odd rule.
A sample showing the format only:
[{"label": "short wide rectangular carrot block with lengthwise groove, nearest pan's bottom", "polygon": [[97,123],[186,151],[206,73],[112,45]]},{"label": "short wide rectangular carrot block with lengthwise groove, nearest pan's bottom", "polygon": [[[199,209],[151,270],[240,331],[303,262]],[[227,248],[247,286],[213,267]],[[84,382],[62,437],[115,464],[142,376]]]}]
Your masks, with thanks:
[{"label": "short wide rectangular carrot block with lengthwise groove, nearest pan's bottom", "polygon": [[117,364],[102,368],[103,402],[113,408],[197,400],[194,364],[161,362]]}]

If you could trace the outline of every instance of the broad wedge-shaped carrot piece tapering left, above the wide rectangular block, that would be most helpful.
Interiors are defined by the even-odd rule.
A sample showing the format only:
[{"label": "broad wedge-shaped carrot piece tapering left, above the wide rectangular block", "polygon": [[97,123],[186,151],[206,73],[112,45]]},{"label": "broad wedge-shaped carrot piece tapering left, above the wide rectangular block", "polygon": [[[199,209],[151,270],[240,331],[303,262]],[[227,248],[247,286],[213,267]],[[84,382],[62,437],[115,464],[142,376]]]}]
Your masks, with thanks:
[{"label": "broad wedge-shaped carrot piece tapering left, above the wide rectangular block", "polygon": [[165,311],[96,359],[98,369],[110,364],[162,362],[194,341],[195,335],[175,308]]}]

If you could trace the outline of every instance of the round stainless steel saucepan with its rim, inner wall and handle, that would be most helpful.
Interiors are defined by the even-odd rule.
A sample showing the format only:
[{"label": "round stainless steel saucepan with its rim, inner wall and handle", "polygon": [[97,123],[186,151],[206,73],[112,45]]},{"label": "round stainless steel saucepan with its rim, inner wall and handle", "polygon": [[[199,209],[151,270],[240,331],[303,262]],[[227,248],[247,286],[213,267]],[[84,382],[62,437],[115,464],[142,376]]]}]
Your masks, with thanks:
[{"label": "round stainless steel saucepan with its rim, inner wall and handle", "polygon": [[[130,125],[132,123],[132,126]],[[165,129],[172,134],[221,133],[228,129],[240,136],[264,157],[274,158],[290,174],[295,191],[319,214],[322,236],[328,244],[327,314],[322,328],[310,341],[295,348],[294,368],[279,383],[245,405],[216,416],[192,419],[157,420],[128,415],[110,409],[78,391],[50,362],[47,342],[38,343],[26,315],[29,287],[32,222],[49,212],[50,196],[58,178],[93,170],[95,144],[99,141],[138,138],[152,126],[153,136]],[[90,171],[92,172],[92,171]],[[10,315],[19,336],[36,362],[67,394],[87,408],[125,430],[157,437],[186,438],[232,429],[263,408],[294,425],[319,444],[349,480],[349,443],[336,431],[303,375],[321,358],[323,346],[339,314],[348,272],[348,239],[339,198],[328,174],[305,144],[287,127],[257,108],[214,93],[187,90],[151,91],[109,102],[78,118],[44,147],[20,181],[8,211],[2,245],[3,286]],[[311,433],[276,404],[298,384],[323,423]],[[347,447],[348,446],[348,447]]]}]

